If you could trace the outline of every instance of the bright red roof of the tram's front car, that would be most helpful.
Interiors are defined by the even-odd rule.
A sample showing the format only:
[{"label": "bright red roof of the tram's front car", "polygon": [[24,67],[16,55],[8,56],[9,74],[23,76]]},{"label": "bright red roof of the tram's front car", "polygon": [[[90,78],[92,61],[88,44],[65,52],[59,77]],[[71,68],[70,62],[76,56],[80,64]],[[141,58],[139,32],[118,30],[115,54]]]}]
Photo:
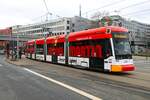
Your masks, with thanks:
[{"label": "bright red roof of the tram's front car", "polygon": [[80,40],[111,38],[112,35],[107,33],[107,29],[109,29],[110,32],[128,31],[126,28],[116,27],[116,26],[100,27],[100,28],[70,33],[68,41],[71,42],[71,41],[80,41]]}]

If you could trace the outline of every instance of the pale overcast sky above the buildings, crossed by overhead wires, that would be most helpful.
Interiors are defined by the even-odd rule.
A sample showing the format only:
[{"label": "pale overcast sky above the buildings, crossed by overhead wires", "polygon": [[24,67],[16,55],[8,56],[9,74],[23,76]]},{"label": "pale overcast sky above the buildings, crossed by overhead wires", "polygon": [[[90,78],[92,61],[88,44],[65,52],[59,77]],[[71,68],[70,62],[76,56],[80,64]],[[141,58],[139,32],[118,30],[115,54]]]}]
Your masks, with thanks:
[{"label": "pale overcast sky above the buildings, crossed by overhead wires", "polygon": [[[0,0],[0,28],[12,25],[25,25],[44,20],[47,12],[44,0]],[[82,16],[89,17],[97,11],[122,15],[130,20],[150,24],[150,0],[45,0],[49,12],[56,17],[73,17],[79,15],[81,4]],[[141,4],[139,5],[139,3]],[[135,5],[137,4],[137,5]],[[130,6],[132,5],[132,6]],[[133,6],[134,5],[134,6]],[[121,8],[124,8],[122,9]],[[99,9],[98,9],[99,8]],[[43,17],[40,17],[43,16]]]}]

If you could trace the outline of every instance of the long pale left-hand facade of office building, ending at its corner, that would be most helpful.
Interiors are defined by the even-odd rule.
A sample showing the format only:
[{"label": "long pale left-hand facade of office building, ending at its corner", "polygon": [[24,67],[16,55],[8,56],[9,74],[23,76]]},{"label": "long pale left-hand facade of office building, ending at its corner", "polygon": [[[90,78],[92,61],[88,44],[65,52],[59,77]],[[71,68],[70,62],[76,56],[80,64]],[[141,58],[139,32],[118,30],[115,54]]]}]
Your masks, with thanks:
[{"label": "long pale left-hand facade of office building, ending at its corner", "polygon": [[28,39],[67,34],[70,32],[70,18],[60,18],[56,20],[12,27],[12,34]]}]

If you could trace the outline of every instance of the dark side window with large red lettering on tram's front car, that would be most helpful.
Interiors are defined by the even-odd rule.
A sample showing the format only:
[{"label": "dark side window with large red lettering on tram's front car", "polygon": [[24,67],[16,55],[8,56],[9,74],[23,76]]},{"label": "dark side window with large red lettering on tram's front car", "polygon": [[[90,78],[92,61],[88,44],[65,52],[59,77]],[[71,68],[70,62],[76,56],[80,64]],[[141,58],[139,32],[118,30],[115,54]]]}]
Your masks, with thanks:
[{"label": "dark side window with large red lettering on tram's front car", "polygon": [[102,45],[98,41],[71,42],[69,56],[102,58]]}]

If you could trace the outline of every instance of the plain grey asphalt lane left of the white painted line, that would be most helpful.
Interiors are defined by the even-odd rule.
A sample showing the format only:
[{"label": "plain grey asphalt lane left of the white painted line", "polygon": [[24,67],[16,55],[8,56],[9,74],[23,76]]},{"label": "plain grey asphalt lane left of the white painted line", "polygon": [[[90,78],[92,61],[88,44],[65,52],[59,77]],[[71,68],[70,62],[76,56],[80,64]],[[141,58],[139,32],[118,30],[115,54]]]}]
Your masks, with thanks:
[{"label": "plain grey asphalt lane left of the white painted line", "polygon": [[87,100],[88,98],[0,59],[0,100],[80,99]]}]

